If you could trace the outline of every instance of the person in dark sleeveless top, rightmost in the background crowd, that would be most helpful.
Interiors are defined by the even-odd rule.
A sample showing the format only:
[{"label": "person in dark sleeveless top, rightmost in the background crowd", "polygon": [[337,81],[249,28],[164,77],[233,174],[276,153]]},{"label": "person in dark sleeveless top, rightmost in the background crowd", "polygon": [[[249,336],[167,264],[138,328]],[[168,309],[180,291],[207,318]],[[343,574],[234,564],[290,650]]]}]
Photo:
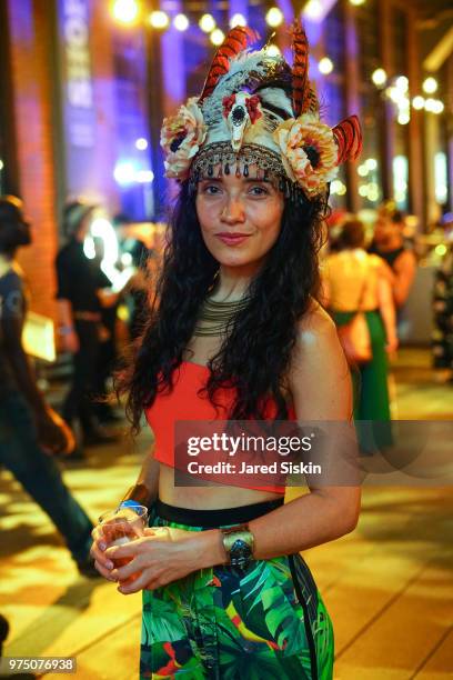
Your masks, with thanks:
[{"label": "person in dark sleeveless top, rightmost in the background crowd", "polygon": [[393,299],[396,309],[401,309],[411,292],[416,259],[413,250],[404,243],[404,216],[400,210],[380,211],[369,252],[378,254],[389,264]]}]

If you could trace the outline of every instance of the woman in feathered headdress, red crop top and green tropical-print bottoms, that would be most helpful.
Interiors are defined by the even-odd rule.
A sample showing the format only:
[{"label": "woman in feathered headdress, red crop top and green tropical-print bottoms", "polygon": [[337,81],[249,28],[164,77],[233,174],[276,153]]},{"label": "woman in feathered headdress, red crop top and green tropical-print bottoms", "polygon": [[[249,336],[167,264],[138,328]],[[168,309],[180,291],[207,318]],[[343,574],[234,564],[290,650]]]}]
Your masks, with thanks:
[{"label": "woman in feathered headdress, red crop top and green tropical-print bottoms", "polygon": [[[152,506],[154,529],[108,550],[93,534],[100,573],[143,590],[141,678],[332,678],[330,619],[298,553],[355,527],[359,490],[313,484],[283,504],[275,484],[177,486],[173,470],[177,420],[351,414],[334,324],[312,294],[328,181],[358,151],[358,123],[336,142],[319,121],[298,26],[293,73],[264,50],[231,58],[250,36],[230,31],[199,100],[162,131],[181,191],[159,302],[121,386],[133,429],[145,410],[155,434],[128,493]],[[114,569],[121,556],[132,561]]]}]

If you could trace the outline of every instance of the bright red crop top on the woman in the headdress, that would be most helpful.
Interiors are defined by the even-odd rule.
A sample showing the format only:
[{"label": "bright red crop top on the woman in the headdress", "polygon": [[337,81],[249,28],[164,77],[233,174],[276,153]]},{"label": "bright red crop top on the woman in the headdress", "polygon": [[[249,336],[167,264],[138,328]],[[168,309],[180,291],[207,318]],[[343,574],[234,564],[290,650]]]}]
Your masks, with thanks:
[{"label": "bright red crop top on the woman in the headdress", "polygon": [[[158,393],[151,408],[145,409],[147,420],[155,437],[154,458],[159,462],[174,468],[174,423],[177,420],[228,420],[231,407],[231,390],[222,389],[217,393],[220,404],[217,410],[208,397],[198,392],[205,386],[208,367],[191,361],[183,361],[177,371],[173,390]],[[271,404],[272,406],[272,404]],[[269,418],[272,418],[272,412]],[[289,410],[289,420],[295,420],[294,409]],[[248,489],[284,493],[282,486],[253,486],[240,483]]]}]

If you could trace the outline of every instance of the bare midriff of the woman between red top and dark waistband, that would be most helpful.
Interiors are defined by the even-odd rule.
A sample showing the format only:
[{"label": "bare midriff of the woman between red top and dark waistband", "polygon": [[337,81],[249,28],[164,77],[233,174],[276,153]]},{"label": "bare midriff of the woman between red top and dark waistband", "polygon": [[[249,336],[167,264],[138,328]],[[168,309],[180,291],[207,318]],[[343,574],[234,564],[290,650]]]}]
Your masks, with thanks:
[{"label": "bare midriff of the woman between red top and dark waistband", "polygon": [[160,463],[159,498],[162,502],[178,508],[191,510],[222,510],[224,508],[240,508],[264,501],[276,500],[281,493],[256,491],[241,487],[226,487],[224,484],[209,487],[175,487],[174,470],[170,466]]}]

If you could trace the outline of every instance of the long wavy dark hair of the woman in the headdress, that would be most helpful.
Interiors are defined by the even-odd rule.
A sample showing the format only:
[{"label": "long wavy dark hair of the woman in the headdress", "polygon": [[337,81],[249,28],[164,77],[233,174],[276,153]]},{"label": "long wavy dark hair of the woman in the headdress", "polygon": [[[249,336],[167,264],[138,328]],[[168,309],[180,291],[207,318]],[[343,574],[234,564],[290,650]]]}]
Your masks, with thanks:
[{"label": "long wavy dark hair of the woman in the headdress", "polygon": [[[285,200],[279,238],[250,284],[250,303],[238,313],[226,340],[208,364],[207,393],[213,404],[219,389],[235,390],[229,414],[232,420],[264,419],[268,399],[274,400],[278,419],[288,414],[283,382],[298,320],[319,289],[324,212],[324,200]],[[127,396],[133,434],[140,431],[143,409],[152,406],[158,392],[172,389],[173,373],[219,270],[203,242],[195,197],[188,183],[181,187],[169,229],[150,320],[117,378],[118,394]]]}]

